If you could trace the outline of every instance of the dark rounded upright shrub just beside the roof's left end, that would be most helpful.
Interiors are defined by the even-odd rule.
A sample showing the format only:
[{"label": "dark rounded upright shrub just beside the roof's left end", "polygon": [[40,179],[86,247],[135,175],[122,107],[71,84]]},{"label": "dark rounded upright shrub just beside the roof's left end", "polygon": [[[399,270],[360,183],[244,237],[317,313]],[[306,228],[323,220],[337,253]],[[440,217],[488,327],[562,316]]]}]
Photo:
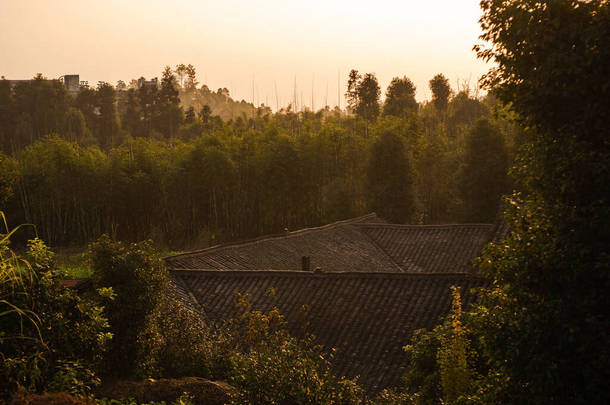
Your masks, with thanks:
[{"label": "dark rounded upright shrub just beside the roof's left end", "polygon": [[104,372],[130,378],[158,375],[159,320],[169,280],[163,261],[149,241],[124,244],[106,235],[89,252],[96,285],[116,293],[106,307],[114,338]]}]

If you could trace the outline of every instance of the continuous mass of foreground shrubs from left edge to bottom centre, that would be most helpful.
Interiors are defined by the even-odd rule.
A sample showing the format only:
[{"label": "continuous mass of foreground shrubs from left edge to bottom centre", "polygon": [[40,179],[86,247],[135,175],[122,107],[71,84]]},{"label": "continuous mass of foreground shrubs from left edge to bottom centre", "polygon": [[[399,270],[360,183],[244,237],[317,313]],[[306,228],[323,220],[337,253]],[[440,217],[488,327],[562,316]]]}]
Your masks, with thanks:
[{"label": "continuous mass of foreground shrubs from left edge to bottom centre", "polygon": [[[357,404],[363,398],[356,381],[332,374],[332,357],[310,337],[291,337],[277,310],[251,311],[247,296],[236,297],[240,315],[228,325],[204,325],[168,291],[167,270],[149,243],[107,236],[92,243],[94,286],[77,295],[59,284],[54,254],[40,240],[30,243],[27,262],[3,241],[1,400],[20,387],[91,398],[116,378],[181,376],[231,382],[235,404]],[[14,271],[18,261],[27,272]],[[189,401],[183,396],[175,403]]]}]

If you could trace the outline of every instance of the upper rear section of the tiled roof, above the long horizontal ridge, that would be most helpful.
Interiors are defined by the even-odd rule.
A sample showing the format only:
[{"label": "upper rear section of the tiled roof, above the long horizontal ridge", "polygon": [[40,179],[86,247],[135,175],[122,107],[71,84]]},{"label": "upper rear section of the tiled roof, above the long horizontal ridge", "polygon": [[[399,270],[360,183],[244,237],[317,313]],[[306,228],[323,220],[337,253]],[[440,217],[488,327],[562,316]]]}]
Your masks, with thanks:
[{"label": "upper rear section of the tiled roof, above the long horizontal ridge", "polygon": [[363,272],[470,272],[491,240],[490,224],[408,226],[380,223],[375,214],[166,258],[171,269]]}]

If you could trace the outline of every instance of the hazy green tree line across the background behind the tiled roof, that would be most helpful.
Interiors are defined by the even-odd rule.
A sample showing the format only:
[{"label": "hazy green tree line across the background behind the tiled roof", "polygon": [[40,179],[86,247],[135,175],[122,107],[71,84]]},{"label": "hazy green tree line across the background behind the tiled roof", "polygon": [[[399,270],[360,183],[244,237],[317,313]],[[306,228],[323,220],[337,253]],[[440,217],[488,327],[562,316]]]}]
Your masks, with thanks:
[{"label": "hazy green tree line across the background behind the tiled roof", "polygon": [[382,104],[375,76],[353,70],[347,112],[262,107],[223,120],[207,104],[185,108],[181,96],[208,90],[182,66],[158,86],[100,83],[75,97],[42,77],[0,81],[10,220],[60,245],[109,233],[205,246],[370,211],[396,223],[493,222],[509,191],[510,113],[491,95],[455,93],[443,75],[429,103],[397,77]]}]

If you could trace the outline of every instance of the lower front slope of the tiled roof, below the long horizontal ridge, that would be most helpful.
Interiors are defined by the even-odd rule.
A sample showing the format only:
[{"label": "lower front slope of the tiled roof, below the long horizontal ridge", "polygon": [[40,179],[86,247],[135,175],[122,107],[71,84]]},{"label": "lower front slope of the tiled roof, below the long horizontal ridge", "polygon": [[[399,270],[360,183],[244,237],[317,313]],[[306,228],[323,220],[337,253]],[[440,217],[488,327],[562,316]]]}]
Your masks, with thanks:
[{"label": "lower front slope of the tiled roof, below the long horizontal ridge", "polygon": [[309,332],[327,349],[336,348],[335,371],[359,376],[370,393],[400,383],[402,347],[414,330],[434,326],[448,312],[450,286],[462,287],[467,304],[470,289],[485,283],[467,274],[364,272],[175,270],[171,277],[208,322],[238,315],[238,292],[251,295],[252,310],[277,308],[293,335]]}]

